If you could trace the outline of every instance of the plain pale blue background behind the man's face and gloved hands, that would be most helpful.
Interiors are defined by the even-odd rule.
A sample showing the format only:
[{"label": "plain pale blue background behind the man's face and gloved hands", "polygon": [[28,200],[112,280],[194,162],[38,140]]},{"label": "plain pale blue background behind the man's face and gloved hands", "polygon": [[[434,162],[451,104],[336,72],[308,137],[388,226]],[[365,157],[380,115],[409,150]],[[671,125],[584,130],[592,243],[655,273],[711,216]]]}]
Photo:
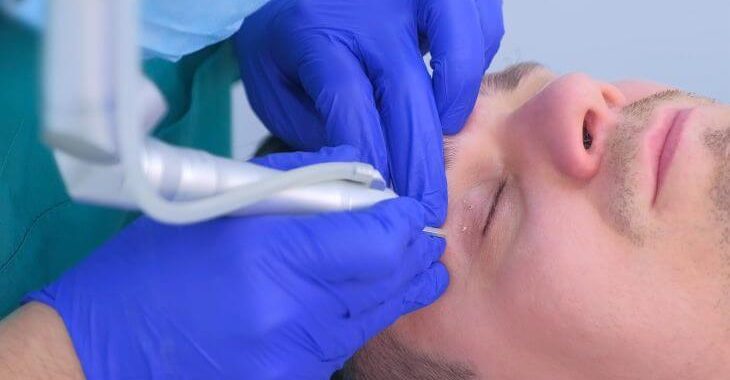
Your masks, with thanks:
[{"label": "plain pale blue background behind the man's face and gloved hands", "polygon": [[[730,0],[504,0],[506,35],[490,70],[525,60],[603,80],[650,79],[730,103]],[[266,130],[233,89],[234,151]]]}]

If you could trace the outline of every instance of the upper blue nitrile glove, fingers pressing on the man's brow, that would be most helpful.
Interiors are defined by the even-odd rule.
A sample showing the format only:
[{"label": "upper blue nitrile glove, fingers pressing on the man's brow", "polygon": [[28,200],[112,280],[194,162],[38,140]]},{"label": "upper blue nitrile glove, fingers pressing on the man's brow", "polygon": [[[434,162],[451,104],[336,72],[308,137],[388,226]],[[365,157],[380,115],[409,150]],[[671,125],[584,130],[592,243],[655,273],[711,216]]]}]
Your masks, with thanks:
[{"label": "upper blue nitrile glove, fingers pressing on the man's brow", "polygon": [[234,40],[269,130],[301,150],[358,147],[440,226],[442,133],[464,125],[503,33],[501,0],[271,0]]}]

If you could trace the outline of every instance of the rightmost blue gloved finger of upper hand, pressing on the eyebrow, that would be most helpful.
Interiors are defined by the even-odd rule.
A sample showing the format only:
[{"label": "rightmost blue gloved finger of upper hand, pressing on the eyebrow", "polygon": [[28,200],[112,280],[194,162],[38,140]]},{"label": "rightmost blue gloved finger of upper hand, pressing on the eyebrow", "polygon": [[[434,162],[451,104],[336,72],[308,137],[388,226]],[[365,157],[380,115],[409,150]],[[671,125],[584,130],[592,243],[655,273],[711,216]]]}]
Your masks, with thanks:
[{"label": "rightmost blue gloved finger of upper hand, pressing on the eyebrow", "polygon": [[421,0],[418,29],[431,51],[433,93],[445,134],[461,130],[485,70],[484,36],[475,0]]}]

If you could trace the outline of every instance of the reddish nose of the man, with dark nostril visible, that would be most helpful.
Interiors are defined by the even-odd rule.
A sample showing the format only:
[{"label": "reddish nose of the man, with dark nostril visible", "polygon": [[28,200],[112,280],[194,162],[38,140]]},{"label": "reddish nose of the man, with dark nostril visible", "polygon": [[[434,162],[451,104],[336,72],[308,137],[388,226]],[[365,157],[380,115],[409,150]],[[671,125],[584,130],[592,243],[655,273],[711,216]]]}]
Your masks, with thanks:
[{"label": "reddish nose of the man, with dark nostril visible", "polygon": [[520,161],[586,181],[598,171],[608,131],[624,102],[608,83],[580,73],[565,75],[512,116],[508,133],[519,144]]}]

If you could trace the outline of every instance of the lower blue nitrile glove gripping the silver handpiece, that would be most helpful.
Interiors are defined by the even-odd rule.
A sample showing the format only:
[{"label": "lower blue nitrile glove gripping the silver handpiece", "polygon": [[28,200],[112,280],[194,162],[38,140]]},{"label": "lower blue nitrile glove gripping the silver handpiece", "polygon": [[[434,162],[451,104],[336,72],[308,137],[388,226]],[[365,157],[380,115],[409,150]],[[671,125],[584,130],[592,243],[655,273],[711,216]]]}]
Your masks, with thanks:
[{"label": "lower blue nitrile glove gripping the silver handpiece", "polygon": [[[354,149],[275,155],[289,168]],[[327,379],[448,282],[410,198],[354,213],[141,218],[27,299],[63,318],[92,379]]]}]

